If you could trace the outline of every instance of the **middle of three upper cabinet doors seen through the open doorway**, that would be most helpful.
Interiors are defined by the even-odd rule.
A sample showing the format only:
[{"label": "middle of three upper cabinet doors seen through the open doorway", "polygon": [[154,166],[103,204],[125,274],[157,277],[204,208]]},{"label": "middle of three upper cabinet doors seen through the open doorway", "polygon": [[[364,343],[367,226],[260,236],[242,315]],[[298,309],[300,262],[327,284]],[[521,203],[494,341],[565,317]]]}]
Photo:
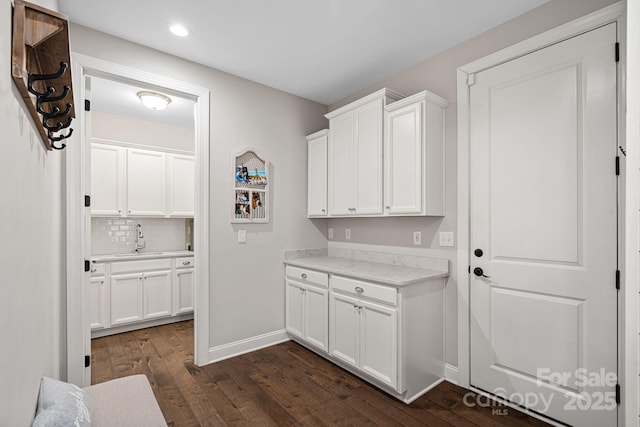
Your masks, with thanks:
[{"label": "middle of three upper cabinet doors seen through the open doorway", "polygon": [[127,151],[127,213],[166,214],[166,154],[158,151]]}]

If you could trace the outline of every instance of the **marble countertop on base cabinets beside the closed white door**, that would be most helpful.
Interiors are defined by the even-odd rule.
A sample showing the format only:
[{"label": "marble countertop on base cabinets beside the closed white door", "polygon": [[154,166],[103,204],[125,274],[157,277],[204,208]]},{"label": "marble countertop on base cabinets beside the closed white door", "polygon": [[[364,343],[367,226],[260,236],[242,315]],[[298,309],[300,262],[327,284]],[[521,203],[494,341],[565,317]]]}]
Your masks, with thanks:
[{"label": "marble countertop on base cabinets beside the closed white door", "polygon": [[316,256],[284,261],[286,265],[320,270],[328,273],[369,280],[393,286],[404,286],[449,276],[448,271],[405,267],[380,262],[360,261],[351,258]]}]

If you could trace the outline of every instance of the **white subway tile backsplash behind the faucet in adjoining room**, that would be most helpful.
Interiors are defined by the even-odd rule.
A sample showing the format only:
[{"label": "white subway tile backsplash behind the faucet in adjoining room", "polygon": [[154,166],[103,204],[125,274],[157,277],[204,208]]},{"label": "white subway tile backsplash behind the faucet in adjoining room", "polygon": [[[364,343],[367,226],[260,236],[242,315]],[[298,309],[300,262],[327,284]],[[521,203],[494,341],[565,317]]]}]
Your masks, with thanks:
[{"label": "white subway tile backsplash behind the faucet in adjoining room", "polygon": [[93,255],[133,252],[136,224],[142,225],[145,251],[185,249],[185,220],[178,218],[91,218]]}]

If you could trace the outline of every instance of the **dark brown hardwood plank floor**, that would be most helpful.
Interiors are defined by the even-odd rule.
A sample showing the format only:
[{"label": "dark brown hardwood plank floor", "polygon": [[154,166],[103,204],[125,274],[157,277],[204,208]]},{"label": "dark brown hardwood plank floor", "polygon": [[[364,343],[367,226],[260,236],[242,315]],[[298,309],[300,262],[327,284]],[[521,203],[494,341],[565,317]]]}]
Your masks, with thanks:
[{"label": "dark brown hardwood plank floor", "polygon": [[467,390],[448,382],[405,405],[291,341],[197,367],[193,321],[97,338],[91,353],[94,384],[145,374],[169,426],[547,425],[469,407]]}]

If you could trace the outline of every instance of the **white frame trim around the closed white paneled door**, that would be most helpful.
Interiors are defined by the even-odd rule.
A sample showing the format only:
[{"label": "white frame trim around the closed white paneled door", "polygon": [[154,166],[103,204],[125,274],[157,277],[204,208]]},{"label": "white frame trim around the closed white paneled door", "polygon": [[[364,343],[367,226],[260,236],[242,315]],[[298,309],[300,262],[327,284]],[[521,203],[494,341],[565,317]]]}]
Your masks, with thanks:
[{"label": "white frame trim around the closed white paneled door", "polygon": [[[578,34],[584,33],[591,29],[600,27],[610,22],[618,23],[618,40],[621,42],[624,39],[621,37],[620,29],[623,24],[623,13],[625,11],[624,2],[614,3],[599,11],[588,14],[582,18],[571,21],[567,24],[561,25],[552,30],[546,31],[540,35],[532,37],[523,42],[517,43],[513,46],[502,49],[484,58],[480,58],[469,64],[463,65],[458,68],[457,75],[457,102],[458,102],[458,248],[457,248],[457,262],[458,262],[458,384],[462,387],[469,388],[470,378],[470,305],[469,305],[469,273],[468,268],[470,265],[469,257],[469,221],[470,221],[470,158],[469,158],[469,111],[470,111],[470,90],[467,82],[473,81],[473,75],[487,68],[494,67],[512,59],[524,56],[533,51],[542,49],[546,46],[555,44],[562,40],[566,40],[570,37],[574,37]],[[621,43],[622,46],[623,43]],[[612,60],[613,60],[613,46]],[[622,49],[624,50],[624,48]],[[623,67],[620,67],[623,68]],[[620,76],[619,76],[620,77]],[[620,79],[619,79],[620,80]],[[619,106],[624,105],[624,92],[619,88]],[[620,107],[618,107],[620,108]],[[623,137],[623,134],[620,135]],[[613,161],[613,160],[612,160]],[[621,258],[623,259],[623,258]],[[624,265],[622,265],[624,267]],[[467,280],[465,280],[467,278]],[[613,280],[613,279],[612,279]],[[619,311],[619,316],[624,316],[624,312]],[[620,337],[624,337],[624,334],[620,333]],[[619,354],[622,354],[622,349],[619,349]],[[622,367],[622,365],[621,365]],[[622,368],[619,372],[623,372]],[[636,375],[637,372],[630,372],[629,375]],[[624,379],[620,378],[620,382],[624,385]],[[629,402],[623,393],[623,404]],[[636,406],[636,405],[633,405]],[[624,407],[621,408],[624,411]],[[635,415],[637,420],[637,414]]]}]

